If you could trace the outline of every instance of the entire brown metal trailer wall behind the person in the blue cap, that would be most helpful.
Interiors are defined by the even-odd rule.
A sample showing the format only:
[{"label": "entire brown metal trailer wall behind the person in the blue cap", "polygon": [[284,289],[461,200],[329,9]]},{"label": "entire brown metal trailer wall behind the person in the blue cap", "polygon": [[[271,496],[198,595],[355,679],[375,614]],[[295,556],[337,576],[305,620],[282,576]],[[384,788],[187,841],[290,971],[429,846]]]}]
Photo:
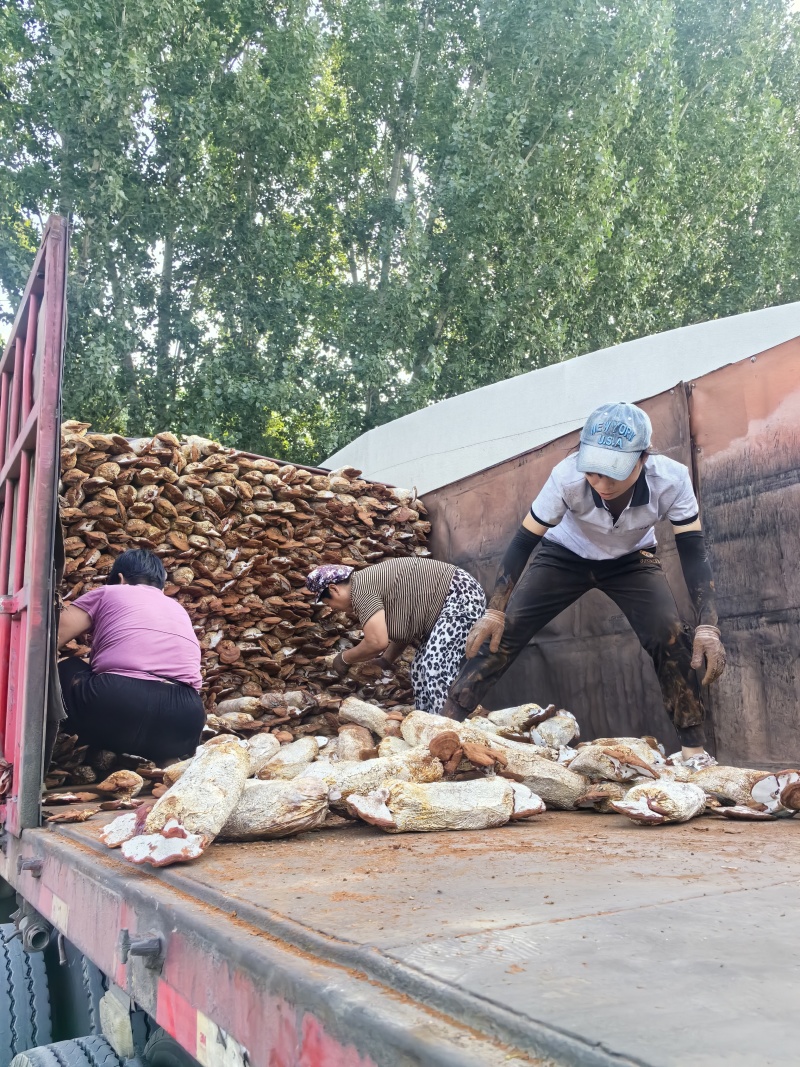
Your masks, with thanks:
[{"label": "entire brown metal trailer wall behind the person in the blue cap", "polygon": [[[657,451],[694,475],[729,650],[708,690],[708,742],[725,763],[800,760],[800,339],[642,400]],[[571,433],[423,499],[430,547],[484,587]],[[659,555],[682,614],[690,605],[669,523]],[[571,708],[585,736],[655,733],[677,747],[649,657],[627,620],[592,592],[546,626],[487,699]]]}]

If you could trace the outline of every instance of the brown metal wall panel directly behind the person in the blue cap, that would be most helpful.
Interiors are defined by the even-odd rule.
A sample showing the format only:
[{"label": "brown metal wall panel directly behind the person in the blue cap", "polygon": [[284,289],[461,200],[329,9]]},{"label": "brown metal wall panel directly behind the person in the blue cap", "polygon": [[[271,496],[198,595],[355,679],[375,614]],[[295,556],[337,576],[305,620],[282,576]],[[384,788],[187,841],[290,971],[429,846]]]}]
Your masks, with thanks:
[{"label": "brown metal wall panel directly behind the person in the blue cap", "polygon": [[[641,405],[653,420],[654,447],[690,466],[683,385]],[[463,567],[484,588],[490,587],[532,499],[577,442],[577,433],[566,434],[426,495],[433,554]],[[678,606],[690,618],[669,523],[662,523],[657,534]],[[486,703],[502,707],[528,700],[569,707],[578,716],[585,737],[656,733],[671,748],[677,746],[650,658],[625,617],[599,592],[582,598],[534,637]]]}]

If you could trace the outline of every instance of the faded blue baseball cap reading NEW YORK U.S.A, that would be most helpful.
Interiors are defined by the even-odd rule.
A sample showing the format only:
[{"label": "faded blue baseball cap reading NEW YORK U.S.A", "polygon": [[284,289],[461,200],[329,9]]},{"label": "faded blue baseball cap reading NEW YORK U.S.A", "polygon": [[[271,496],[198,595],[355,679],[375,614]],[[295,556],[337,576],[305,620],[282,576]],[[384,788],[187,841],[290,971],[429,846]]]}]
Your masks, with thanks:
[{"label": "faded blue baseball cap reading NEW YORK U.S.A", "polygon": [[653,427],[646,412],[633,403],[604,403],[580,431],[577,467],[624,481],[639,456],[650,448]]}]

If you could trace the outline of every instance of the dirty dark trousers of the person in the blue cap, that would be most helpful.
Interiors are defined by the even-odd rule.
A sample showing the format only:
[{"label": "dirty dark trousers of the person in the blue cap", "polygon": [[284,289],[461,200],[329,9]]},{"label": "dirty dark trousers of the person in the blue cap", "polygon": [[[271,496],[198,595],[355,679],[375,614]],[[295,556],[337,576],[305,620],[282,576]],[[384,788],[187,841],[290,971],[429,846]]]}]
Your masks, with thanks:
[{"label": "dirty dark trousers of the person in the blue cap", "polygon": [[474,659],[465,662],[450,688],[455,717],[473,712],[528,641],[590,589],[611,598],[653,659],[665,707],[682,744],[704,745],[705,712],[690,666],[692,631],[677,612],[655,550],[594,560],[543,541],[511,594],[500,648],[493,653],[489,642],[483,644]]}]

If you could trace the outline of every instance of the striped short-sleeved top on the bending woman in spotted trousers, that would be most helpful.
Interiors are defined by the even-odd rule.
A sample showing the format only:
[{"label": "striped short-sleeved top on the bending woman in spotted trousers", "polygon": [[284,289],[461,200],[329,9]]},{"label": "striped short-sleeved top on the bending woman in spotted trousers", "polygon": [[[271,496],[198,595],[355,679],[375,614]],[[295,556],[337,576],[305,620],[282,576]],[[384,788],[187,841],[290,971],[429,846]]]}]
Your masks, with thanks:
[{"label": "striped short-sleeved top on the bending woman in spotted trousers", "polygon": [[351,582],[353,608],[362,626],[377,611],[386,612],[390,641],[427,638],[438,619],[455,568],[422,556],[385,559],[356,571]]}]

